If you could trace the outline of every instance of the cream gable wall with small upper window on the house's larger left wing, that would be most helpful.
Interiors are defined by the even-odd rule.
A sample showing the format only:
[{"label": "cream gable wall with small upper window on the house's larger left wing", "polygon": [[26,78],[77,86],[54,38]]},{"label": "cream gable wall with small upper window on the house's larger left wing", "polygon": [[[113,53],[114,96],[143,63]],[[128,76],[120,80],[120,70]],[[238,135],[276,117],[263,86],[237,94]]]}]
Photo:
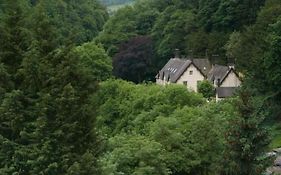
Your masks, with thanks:
[{"label": "cream gable wall with small upper window on the house's larger left wing", "polygon": [[[189,74],[190,71],[193,71],[192,75]],[[204,79],[199,70],[191,64],[176,83],[183,84],[184,81],[187,81],[187,88],[197,92],[197,81],[203,81]]]}]

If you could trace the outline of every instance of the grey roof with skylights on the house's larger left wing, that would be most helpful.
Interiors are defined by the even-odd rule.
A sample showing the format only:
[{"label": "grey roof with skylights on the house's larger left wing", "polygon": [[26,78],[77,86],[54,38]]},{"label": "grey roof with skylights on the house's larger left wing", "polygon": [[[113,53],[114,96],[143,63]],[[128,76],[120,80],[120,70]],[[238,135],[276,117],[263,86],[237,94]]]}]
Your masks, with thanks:
[{"label": "grey roof with skylights on the house's larger left wing", "polygon": [[160,70],[157,78],[163,80],[165,77],[166,80],[170,80],[170,82],[175,83],[192,63],[204,76],[207,76],[207,73],[211,68],[211,64],[208,59],[189,60],[172,58]]}]

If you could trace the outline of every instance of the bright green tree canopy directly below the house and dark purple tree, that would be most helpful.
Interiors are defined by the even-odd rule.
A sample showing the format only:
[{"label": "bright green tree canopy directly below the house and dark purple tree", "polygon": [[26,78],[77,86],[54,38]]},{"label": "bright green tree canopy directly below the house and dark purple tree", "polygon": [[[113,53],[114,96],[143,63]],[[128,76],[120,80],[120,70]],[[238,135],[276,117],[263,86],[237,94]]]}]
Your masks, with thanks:
[{"label": "bright green tree canopy directly below the house and dark purple tree", "polygon": [[106,134],[115,135],[134,127],[141,131],[146,121],[153,121],[158,115],[168,116],[178,107],[203,103],[199,95],[186,92],[181,86],[164,89],[156,85],[137,87],[120,80],[109,80],[101,84],[94,101],[100,106],[98,126]]}]

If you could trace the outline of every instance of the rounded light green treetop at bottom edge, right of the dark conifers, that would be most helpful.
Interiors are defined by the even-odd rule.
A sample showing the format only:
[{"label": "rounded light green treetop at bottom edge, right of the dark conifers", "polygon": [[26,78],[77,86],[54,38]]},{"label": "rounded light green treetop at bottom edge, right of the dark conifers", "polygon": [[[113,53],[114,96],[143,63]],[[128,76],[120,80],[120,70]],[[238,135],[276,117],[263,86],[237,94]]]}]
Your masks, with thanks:
[{"label": "rounded light green treetop at bottom edge, right of the dark conifers", "polygon": [[109,140],[101,159],[102,174],[168,175],[160,143],[140,135],[118,135]]}]

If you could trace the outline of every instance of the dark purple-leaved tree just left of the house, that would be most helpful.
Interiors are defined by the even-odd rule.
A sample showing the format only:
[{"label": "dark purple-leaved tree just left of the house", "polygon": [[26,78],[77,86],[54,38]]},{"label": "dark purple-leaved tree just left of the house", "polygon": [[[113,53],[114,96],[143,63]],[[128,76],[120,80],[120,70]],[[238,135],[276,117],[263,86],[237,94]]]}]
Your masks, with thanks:
[{"label": "dark purple-leaved tree just left of the house", "polygon": [[153,78],[153,44],[148,36],[137,36],[119,47],[113,57],[113,75],[140,83]]}]

